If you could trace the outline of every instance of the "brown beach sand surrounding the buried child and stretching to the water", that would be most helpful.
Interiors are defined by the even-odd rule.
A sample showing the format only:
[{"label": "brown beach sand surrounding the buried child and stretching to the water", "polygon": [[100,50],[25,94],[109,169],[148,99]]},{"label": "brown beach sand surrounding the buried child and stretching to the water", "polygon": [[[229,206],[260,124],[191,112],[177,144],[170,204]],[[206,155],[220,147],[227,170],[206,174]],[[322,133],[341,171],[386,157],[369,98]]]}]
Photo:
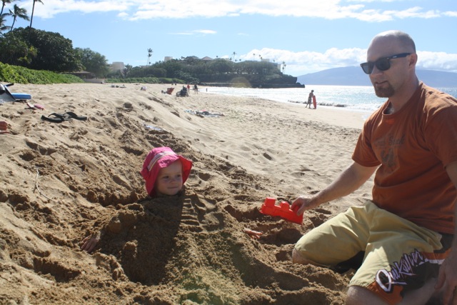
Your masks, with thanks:
[{"label": "brown beach sand surrounding the buried child and stretching to the water", "polygon": [[[0,303],[342,304],[351,271],[293,265],[291,251],[369,198],[371,182],[307,211],[302,225],[259,208],[331,182],[351,162],[364,115],[166,87],[10,87],[45,109],[0,105],[11,132],[0,135]],[[88,120],[41,120],[66,111]],[[183,196],[146,196],[139,171],[156,146],[194,161]],[[81,251],[99,230],[94,252]]]}]

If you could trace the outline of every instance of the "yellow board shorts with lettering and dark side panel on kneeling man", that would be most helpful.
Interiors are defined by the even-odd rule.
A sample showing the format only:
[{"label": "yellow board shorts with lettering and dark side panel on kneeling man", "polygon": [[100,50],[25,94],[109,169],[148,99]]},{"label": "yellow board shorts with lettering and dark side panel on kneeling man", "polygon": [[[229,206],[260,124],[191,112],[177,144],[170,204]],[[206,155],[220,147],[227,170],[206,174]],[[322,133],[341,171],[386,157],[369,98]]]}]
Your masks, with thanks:
[{"label": "yellow board shorts with lettering and dark side panel on kneeling man", "polygon": [[309,231],[295,249],[303,259],[333,269],[351,266],[346,263],[360,257],[349,285],[370,289],[389,304],[396,304],[406,292],[438,276],[452,238],[368,201]]}]

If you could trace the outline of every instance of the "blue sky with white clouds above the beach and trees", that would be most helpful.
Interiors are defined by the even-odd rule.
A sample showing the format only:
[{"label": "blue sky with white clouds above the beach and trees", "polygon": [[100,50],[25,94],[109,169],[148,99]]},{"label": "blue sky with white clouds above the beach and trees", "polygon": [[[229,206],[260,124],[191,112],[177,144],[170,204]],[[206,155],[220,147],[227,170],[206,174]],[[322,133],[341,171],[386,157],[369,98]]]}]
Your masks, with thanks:
[{"label": "blue sky with white clouds above the beach and trees", "polygon": [[[32,26],[131,66],[186,56],[269,59],[301,76],[357,66],[381,31],[416,42],[417,69],[457,72],[456,0],[41,0]],[[14,4],[31,14],[33,0]],[[12,19],[6,19],[6,25]],[[14,27],[29,26],[18,19]]]}]

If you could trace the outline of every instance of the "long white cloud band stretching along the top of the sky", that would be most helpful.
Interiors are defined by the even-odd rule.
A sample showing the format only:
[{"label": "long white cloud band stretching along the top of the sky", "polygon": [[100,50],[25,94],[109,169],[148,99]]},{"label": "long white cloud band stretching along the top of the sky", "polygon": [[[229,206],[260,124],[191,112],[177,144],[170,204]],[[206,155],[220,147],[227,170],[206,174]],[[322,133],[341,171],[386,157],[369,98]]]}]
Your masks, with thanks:
[{"label": "long white cloud band stretching along the top of the sky", "polygon": [[[216,18],[222,16],[240,16],[259,14],[265,16],[295,16],[322,19],[358,19],[369,22],[391,21],[406,18],[438,18],[441,16],[456,17],[457,11],[441,12],[424,10],[420,6],[400,10],[376,9],[380,2],[397,2],[401,0],[46,0],[37,3],[35,16],[52,18],[56,14],[79,11],[89,14],[94,12],[118,12],[118,16],[128,20],[144,19],[186,19]],[[19,6],[31,11],[32,1],[18,1]],[[407,3],[401,1],[403,4]],[[392,5],[389,5],[392,6]]]}]

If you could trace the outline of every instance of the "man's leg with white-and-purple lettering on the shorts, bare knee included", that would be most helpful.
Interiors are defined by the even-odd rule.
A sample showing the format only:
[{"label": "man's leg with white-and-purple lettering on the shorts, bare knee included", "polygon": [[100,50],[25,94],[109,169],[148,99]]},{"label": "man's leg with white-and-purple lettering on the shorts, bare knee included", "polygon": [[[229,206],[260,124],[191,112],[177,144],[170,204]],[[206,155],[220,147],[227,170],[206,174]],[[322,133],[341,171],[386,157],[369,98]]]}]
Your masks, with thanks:
[{"label": "man's leg with white-and-purple lettering on the shorts, bare knee included", "polygon": [[452,236],[383,209],[371,215],[366,256],[349,284],[347,304],[426,304]]}]

